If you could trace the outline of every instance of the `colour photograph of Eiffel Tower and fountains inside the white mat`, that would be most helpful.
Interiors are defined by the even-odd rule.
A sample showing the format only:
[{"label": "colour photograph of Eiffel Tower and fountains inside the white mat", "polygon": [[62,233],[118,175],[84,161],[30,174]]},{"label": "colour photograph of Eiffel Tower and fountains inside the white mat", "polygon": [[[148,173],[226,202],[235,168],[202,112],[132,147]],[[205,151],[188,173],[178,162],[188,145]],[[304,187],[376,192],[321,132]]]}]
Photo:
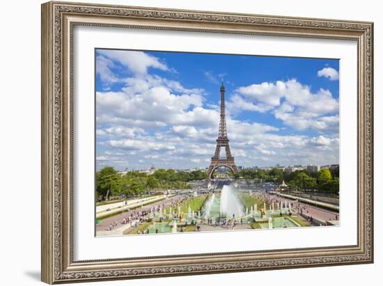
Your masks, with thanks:
[{"label": "colour photograph of Eiffel Tower and fountains inside the white mat", "polygon": [[96,237],[341,225],[338,58],[94,56]]}]

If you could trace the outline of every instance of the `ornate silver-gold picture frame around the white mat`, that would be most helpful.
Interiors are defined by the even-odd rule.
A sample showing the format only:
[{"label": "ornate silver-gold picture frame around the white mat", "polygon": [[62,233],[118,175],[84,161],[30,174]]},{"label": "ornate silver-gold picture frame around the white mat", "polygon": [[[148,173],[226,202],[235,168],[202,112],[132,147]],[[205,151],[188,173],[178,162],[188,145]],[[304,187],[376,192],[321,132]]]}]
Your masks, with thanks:
[{"label": "ornate silver-gold picture frame around the white mat", "polygon": [[[272,35],[357,42],[357,244],[75,261],[75,26]],[[373,23],[192,10],[42,4],[42,281],[49,284],[373,263]],[[351,124],[351,123],[350,123]]]}]

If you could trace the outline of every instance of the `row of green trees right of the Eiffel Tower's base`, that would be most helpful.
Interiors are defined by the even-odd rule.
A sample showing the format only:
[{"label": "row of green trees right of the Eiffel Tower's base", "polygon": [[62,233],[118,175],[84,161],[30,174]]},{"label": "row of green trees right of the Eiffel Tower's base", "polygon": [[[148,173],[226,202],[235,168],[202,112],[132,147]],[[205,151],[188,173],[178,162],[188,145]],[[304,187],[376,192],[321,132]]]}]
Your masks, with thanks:
[{"label": "row of green trees right of the Eiffel Tower's base", "polygon": [[328,193],[339,192],[339,168],[322,169],[318,172],[296,170],[292,173],[283,172],[279,168],[271,170],[244,169],[233,175],[235,178],[263,179],[269,182],[286,182],[290,189],[317,190]]}]

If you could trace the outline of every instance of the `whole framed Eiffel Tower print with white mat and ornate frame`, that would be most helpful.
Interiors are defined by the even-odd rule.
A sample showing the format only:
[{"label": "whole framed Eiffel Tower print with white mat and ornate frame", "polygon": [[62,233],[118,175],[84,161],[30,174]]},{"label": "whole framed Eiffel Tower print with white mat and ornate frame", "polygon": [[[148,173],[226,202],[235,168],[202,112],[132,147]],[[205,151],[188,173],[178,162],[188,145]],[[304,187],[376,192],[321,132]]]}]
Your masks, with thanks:
[{"label": "whole framed Eiffel Tower print with white mat and ornate frame", "polygon": [[42,280],[373,262],[373,23],[42,4]]}]

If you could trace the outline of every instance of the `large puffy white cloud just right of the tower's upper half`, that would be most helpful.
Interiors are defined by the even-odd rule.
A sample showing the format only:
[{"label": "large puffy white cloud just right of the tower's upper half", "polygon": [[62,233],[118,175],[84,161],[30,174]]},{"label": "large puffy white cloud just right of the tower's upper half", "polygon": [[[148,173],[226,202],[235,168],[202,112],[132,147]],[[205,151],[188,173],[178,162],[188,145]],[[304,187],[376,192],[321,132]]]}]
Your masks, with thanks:
[{"label": "large puffy white cloud just right of the tower's upper half", "polygon": [[337,132],[339,102],[329,90],[313,92],[296,79],[242,86],[228,102],[233,113],[240,110],[271,111],[284,125],[297,130]]}]

